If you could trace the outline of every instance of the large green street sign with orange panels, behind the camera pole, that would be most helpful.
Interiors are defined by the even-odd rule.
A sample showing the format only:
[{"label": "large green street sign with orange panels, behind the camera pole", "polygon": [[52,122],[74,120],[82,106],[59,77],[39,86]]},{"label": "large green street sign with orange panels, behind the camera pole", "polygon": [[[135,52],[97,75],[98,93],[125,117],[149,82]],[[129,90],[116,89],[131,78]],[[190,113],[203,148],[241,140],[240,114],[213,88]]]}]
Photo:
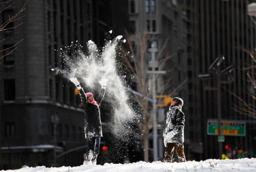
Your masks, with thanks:
[{"label": "large green street sign with orange panels, behind the camera pole", "polygon": [[[217,120],[208,120],[207,122],[207,134],[218,135],[218,122]],[[245,122],[221,121],[221,135],[225,136],[245,136]]]}]

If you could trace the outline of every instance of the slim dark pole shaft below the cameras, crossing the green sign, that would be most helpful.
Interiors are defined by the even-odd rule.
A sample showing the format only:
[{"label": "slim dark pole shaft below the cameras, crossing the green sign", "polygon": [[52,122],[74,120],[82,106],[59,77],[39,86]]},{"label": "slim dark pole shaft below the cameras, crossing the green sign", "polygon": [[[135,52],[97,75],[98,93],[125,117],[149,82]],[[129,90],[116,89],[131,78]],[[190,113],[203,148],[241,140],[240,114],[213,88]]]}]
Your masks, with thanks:
[{"label": "slim dark pole shaft below the cameras, crossing the green sign", "polygon": [[[221,135],[221,95],[220,95],[220,75],[217,74],[217,113],[218,113],[218,135]],[[219,158],[222,159],[222,142],[219,142]]]}]

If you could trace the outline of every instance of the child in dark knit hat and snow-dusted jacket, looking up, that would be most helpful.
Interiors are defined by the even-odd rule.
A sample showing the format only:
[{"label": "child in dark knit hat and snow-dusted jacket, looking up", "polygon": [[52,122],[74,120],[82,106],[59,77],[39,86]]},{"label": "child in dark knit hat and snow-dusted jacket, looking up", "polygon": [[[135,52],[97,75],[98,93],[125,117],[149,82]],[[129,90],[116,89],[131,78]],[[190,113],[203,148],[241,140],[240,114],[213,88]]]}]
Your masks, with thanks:
[{"label": "child in dark knit hat and snow-dusted jacket, looking up", "polygon": [[185,162],[184,154],[184,122],[185,116],[181,111],[183,100],[174,97],[171,101],[169,111],[166,113],[164,120],[164,162],[172,163],[174,149],[178,156],[179,163]]}]

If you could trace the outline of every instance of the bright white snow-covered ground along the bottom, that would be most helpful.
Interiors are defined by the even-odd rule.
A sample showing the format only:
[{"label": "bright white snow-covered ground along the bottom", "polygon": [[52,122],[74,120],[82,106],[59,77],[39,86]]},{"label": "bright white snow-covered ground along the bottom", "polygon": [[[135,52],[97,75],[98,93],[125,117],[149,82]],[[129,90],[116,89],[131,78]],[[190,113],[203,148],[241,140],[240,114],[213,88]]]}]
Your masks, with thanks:
[{"label": "bright white snow-covered ground along the bottom", "polygon": [[[81,165],[78,167],[25,167],[19,170],[6,172],[256,172],[256,158],[237,160],[205,160],[188,161],[186,163],[130,163],[130,164],[104,164]],[[1,171],[3,172],[3,171]]]}]

